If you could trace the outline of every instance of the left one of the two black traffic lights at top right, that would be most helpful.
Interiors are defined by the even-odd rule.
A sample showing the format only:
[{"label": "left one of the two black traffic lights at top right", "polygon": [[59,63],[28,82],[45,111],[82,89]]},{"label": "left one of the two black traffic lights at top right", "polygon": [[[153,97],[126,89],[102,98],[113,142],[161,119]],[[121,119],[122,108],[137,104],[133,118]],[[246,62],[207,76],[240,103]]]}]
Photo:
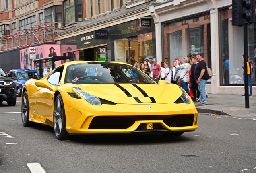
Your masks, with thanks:
[{"label": "left one of the two black traffic lights at top right", "polygon": [[242,19],[242,14],[244,12],[243,7],[241,6],[243,0],[232,0],[232,6],[229,8],[232,10],[232,25],[243,26],[244,21]]}]

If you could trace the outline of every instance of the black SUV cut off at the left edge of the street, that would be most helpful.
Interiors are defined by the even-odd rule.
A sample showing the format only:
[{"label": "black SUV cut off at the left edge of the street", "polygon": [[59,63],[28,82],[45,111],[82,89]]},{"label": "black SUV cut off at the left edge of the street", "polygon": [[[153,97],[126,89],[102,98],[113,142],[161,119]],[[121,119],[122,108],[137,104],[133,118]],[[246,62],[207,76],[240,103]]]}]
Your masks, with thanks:
[{"label": "black SUV cut off at the left edge of the street", "polygon": [[0,104],[7,101],[8,106],[16,105],[16,83],[0,67]]}]

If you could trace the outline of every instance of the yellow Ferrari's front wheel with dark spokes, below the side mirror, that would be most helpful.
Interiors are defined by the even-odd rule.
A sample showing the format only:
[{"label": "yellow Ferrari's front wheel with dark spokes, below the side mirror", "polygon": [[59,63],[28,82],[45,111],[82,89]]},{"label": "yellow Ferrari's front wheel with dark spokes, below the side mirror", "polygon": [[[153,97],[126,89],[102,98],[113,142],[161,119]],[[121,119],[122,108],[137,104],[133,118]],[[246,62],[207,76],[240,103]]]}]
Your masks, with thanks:
[{"label": "yellow Ferrari's front wheel with dark spokes, below the side mirror", "polygon": [[61,95],[57,95],[54,102],[54,133],[57,139],[63,140],[68,138],[66,131],[66,115]]}]

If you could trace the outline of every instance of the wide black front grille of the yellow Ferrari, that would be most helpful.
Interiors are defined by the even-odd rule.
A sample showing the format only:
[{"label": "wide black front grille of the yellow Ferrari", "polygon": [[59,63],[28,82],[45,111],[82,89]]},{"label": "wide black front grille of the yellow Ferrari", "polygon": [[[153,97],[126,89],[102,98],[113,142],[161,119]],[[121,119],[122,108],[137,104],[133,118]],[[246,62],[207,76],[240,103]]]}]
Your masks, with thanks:
[{"label": "wide black front grille of the yellow Ferrari", "polygon": [[147,116],[98,116],[94,117],[89,129],[127,129],[136,120],[163,120],[169,127],[192,126],[194,114],[147,115]]}]

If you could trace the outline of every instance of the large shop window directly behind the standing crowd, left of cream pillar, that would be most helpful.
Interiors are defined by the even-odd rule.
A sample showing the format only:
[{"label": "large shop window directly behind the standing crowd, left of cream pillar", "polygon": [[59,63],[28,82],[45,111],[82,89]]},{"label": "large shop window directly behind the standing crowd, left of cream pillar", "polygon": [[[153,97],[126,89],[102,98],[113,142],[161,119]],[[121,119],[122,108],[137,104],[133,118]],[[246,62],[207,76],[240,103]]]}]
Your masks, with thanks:
[{"label": "large shop window directly behind the standing crowd, left of cream pillar", "polygon": [[202,14],[163,24],[163,61],[170,67],[173,59],[183,60],[190,54],[202,54],[206,64],[211,67],[210,14]]}]

